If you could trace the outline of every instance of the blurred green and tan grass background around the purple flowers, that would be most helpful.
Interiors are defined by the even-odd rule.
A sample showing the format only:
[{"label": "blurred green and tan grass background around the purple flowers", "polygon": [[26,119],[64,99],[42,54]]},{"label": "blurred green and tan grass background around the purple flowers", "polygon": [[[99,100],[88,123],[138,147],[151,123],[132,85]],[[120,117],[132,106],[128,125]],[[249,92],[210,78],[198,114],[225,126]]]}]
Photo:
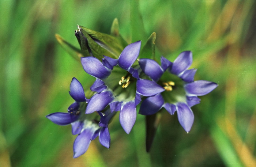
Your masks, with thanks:
[{"label": "blurred green and tan grass background around the purple flowers", "polygon": [[[0,0],[1,167],[256,166],[255,1],[141,0],[138,8],[144,34],[136,31],[143,24],[136,24],[138,13],[131,12],[127,0]],[[219,86],[192,107],[195,122],[189,134],[176,114],[162,113],[146,153],[144,117],[138,115],[127,135],[116,116],[110,149],[95,140],[73,159],[71,127],[55,125],[45,115],[67,111],[73,102],[68,94],[72,77],[85,88],[94,78],[54,34],[79,47],[77,24],[109,34],[114,18],[128,43],[146,41],[156,32],[158,57],[173,61],[191,50],[195,80]]]}]

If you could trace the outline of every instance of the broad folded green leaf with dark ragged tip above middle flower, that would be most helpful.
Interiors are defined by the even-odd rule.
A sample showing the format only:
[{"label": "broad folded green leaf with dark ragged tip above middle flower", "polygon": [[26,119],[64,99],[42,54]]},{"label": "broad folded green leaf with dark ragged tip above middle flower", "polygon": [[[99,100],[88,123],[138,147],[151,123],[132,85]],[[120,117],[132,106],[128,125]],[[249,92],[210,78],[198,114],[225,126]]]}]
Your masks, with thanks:
[{"label": "broad folded green leaf with dark ragged tip above middle flower", "polygon": [[86,56],[93,55],[99,60],[103,55],[118,58],[125,46],[128,45],[124,40],[122,40],[120,35],[118,37],[114,37],[82,26],[78,26],[78,30],[76,30],[76,32],[78,32],[80,37],[79,43],[81,43],[82,52],[89,52],[89,55]]}]

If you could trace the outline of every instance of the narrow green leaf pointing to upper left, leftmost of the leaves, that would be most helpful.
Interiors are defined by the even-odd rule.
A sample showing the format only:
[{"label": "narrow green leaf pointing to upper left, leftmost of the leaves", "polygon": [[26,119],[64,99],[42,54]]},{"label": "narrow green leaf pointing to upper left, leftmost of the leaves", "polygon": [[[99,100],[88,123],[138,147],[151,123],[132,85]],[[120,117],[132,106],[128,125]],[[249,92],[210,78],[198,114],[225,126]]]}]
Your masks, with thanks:
[{"label": "narrow green leaf pointing to upper left, leftmost of the leaves", "polygon": [[80,57],[84,56],[80,49],[71,45],[69,42],[67,42],[65,39],[63,39],[59,34],[55,34],[55,38],[57,39],[59,44],[62,46],[62,48],[66,52],[68,52],[72,57],[74,57],[76,60],[80,61]]}]

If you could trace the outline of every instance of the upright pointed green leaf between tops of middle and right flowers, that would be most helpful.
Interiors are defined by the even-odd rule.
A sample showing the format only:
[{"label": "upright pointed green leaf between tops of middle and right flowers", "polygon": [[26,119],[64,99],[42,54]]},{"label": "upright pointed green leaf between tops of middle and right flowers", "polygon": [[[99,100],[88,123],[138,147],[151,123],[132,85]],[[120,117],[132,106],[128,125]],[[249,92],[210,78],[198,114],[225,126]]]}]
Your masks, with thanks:
[{"label": "upright pointed green leaf between tops of middle and right flowers", "polygon": [[155,59],[155,38],[157,37],[156,33],[152,33],[147,39],[146,44],[143,46],[139,58],[151,58]]}]

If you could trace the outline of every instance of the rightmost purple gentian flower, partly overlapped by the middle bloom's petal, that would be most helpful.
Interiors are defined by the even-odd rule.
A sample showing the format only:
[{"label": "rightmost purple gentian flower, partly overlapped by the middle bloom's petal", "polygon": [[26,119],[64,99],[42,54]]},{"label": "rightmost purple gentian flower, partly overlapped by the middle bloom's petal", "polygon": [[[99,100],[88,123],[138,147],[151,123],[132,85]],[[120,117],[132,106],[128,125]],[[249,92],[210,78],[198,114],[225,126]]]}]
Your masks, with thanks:
[{"label": "rightmost purple gentian flower, partly overlapped by the middle bloom's petal", "polygon": [[178,121],[188,133],[194,121],[191,107],[200,103],[197,96],[206,95],[218,84],[206,80],[194,81],[195,69],[192,64],[192,52],[185,51],[170,62],[161,57],[161,66],[151,59],[139,59],[142,71],[166,90],[143,100],[140,114],[151,115],[164,107],[171,115],[177,111]]}]

